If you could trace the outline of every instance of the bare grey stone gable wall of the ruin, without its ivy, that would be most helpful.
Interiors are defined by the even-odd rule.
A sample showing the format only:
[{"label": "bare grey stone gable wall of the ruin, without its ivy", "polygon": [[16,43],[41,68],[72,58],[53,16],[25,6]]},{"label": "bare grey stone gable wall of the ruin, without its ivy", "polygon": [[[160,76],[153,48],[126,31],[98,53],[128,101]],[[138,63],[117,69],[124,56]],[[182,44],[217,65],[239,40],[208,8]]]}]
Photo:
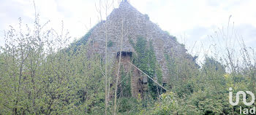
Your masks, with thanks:
[{"label": "bare grey stone gable wall of the ruin, without its ivy", "polygon": [[[154,51],[157,58],[157,63],[162,68],[162,82],[167,83],[170,81],[168,79],[168,69],[167,60],[165,59],[165,54],[170,55],[173,58],[184,58],[184,60],[189,60],[194,63],[193,57],[187,54],[187,49],[185,49],[183,44],[179,44],[174,36],[170,36],[166,31],[162,31],[161,28],[155,23],[149,20],[148,15],[143,15],[138,12],[135,7],[132,7],[128,1],[121,1],[118,8],[113,9],[113,11],[108,15],[107,19],[101,21],[95,25],[86,36],[78,41],[79,44],[89,44],[90,52],[96,52],[105,60],[113,60],[113,62],[118,62],[118,54],[121,49],[121,65],[124,66],[124,70],[127,71],[132,69],[131,76],[131,92],[132,96],[138,95],[145,90],[144,84],[147,84],[147,78],[140,71],[130,66],[128,61],[131,60],[132,54],[136,53],[135,49],[130,44],[129,39],[136,41],[138,36],[145,38],[147,41],[153,41]],[[106,49],[106,39],[110,45],[108,46],[107,52],[108,56],[105,57]],[[122,46],[121,46],[121,39]],[[115,65],[115,63],[113,64]],[[117,67],[117,64],[116,64]],[[114,67],[114,69],[116,69]],[[114,84],[113,80],[113,84]],[[114,85],[112,87],[114,87]]]}]

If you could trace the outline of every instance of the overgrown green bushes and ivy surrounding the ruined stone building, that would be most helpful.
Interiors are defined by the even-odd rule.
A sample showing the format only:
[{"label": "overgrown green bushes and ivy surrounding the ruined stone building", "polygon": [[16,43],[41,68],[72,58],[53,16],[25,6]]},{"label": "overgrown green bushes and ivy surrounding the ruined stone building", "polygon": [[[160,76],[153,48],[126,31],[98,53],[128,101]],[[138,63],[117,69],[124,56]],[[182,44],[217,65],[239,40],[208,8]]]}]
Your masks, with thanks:
[{"label": "overgrown green bushes and ivy surrounding the ruined stone building", "polygon": [[[211,38],[227,41],[222,52],[217,52],[219,42],[213,42],[213,48],[204,49],[211,50],[210,55],[197,54],[205,58],[200,68],[165,54],[167,82],[163,82],[154,41],[142,36],[129,39],[136,53],[124,65],[121,47],[116,63],[92,52],[92,41],[86,39],[90,31],[83,41],[69,44],[71,36],[64,24],[58,33],[46,28],[48,23],[40,24],[36,15],[32,28],[21,19],[19,25],[10,26],[1,36],[5,44],[0,49],[0,114],[240,114],[240,106],[253,108],[256,104],[229,103],[229,87],[234,94],[255,93],[256,55],[242,40],[232,47],[227,40],[236,38],[228,31]],[[103,38],[107,52],[117,45],[107,34]],[[146,78],[138,93],[132,92],[135,70],[142,80]]]}]

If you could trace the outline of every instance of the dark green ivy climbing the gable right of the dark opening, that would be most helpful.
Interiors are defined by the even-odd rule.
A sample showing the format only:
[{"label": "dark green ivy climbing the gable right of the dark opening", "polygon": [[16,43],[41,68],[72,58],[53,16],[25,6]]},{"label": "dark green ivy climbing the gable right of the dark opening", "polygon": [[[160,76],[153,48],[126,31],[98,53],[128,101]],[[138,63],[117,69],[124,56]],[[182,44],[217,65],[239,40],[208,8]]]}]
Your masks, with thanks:
[{"label": "dark green ivy climbing the gable right of the dark opening", "polygon": [[[129,41],[136,52],[135,55],[132,55],[132,63],[162,84],[162,71],[157,64],[153,41],[147,41],[143,37],[138,37],[136,43],[132,39],[129,39]],[[152,98],[157,98],[159,93],[159,87],[151,79],[148,79],[148,92]]]}]

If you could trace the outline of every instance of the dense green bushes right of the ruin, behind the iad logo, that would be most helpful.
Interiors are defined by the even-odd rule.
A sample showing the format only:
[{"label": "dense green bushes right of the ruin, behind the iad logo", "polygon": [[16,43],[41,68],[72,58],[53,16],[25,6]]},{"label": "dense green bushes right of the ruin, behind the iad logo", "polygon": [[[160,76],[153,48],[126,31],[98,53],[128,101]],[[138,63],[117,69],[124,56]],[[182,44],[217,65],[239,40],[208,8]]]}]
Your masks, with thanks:
[{"label": "dense green bushes right of the ruin, behind the iad logo", "polygon": [[[181,63],[176,64],[176,60],[168,58],[168,56],[167,60],[170,60],[169,64],[173,64],[169,69],[172,69],[174,74],[177,75],[175,71],[176,68],[181,66]],[[148,114],[153,112],[172,114],[173,111],[176,111],[176,114],[239,114],[239,106],[253,108],[253,106],[244,106],[242,103],[239,103],[238,106],[230,106],[228,100],[228,88],[233,87],[233,93],[249,89],[252,84],[251,77],[246,77],[244,74],[237,72],[227,74],[222,63],[219,63],[213,57],[206,57],[203,67],[197,72],[197,74],[192,74],[192,77],[184,80],[179,79],[181,82],[172,85],[173,87],[170,90],[173,91],[175,97],[173,100],[178,103],[176,109],[167,107],[168,112],[165,113],[162,112],[161,107],[159,110],[159,105],[155,105]],[[181,78],[181,76],[181,74],[178,74],[178,78]],[[160,100],[159,103],[162,103],[162,101]],[[168,104],[164,105],[167,106]]]}]

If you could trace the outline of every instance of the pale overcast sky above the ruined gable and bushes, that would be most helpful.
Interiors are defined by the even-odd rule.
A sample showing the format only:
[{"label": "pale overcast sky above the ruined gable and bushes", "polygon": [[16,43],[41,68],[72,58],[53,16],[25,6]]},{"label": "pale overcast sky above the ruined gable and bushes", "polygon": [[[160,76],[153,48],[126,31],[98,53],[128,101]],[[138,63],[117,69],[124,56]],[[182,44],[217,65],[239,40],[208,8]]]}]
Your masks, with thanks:
[{"label": "pale overcast sky above the ruined gable and bushes", "polygon": [[[50,20],[53,28],[61,28],[61,20],[64,20],[72,39],[79,39],[99,21],[95,8],[98,1],[35,0],[35,4],[41,23]],[[24,23],[33,23],[34,6],[32,0],[0,0],[0,3],[1,45],[4,30],[8,25],[18,25],[18,17]],[[230,24],[235,23],[236,33],[249,47],[256,46],[255,0],[129,0],[129,3],[186,44],[204,41],[214,30],[226,28],[232,15]]]}]

